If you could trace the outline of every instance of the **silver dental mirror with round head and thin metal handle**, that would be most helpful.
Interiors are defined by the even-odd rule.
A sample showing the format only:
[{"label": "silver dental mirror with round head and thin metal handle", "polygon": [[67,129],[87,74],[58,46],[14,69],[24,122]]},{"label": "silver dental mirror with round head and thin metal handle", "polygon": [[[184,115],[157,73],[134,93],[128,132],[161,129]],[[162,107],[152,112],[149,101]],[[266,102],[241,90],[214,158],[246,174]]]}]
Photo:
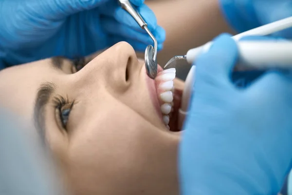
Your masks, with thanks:
[{"label": "silver dental mirror with round head and thin metal handle", "polygon": [[145,50],[145,66],[148,77],[154,79],[157,76],[157,40],[147,27],[147,23],[142,16],[134,9],[128,0],[119,0],[122,8],[126,10],[137,21],[139,26],[146,30],[147,34],[154,42],[154,48],[152,45],[148,45]]}]

